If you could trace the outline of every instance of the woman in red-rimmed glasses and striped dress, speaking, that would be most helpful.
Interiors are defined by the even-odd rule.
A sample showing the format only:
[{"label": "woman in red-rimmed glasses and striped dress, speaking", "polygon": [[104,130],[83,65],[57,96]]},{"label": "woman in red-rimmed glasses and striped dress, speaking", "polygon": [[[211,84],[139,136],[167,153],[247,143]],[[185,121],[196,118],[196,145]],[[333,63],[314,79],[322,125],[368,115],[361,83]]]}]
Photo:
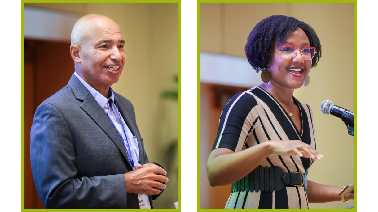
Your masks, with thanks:
[{"label": "woman in red-rimmed glasses and striped dress, speaking", "polygon": [[234,95],[223,109],[207,163],[211,186],[232,183],[225,209],[308,209],[339,197],[341,187],[307,180],[316,151],[313,112],[293,97],[321,57],[314,29],[296,18],[260,21],[245,46],[263,84]]}]

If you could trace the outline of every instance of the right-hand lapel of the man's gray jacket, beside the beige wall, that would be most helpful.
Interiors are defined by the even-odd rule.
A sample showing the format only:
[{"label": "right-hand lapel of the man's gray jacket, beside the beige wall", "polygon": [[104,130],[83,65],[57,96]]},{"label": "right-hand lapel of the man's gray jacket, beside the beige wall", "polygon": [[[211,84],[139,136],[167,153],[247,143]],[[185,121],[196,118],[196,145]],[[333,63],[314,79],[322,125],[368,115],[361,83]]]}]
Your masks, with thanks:
[{"label": "right-hand lapel of the man's gray jacket, beside the beige wall", "polygon": [[[117,96],[119,96],[119,94],[117,94]],[[116,101],[117,101],[117,104],[119,102],[118,109],[119,109],[120,114],[123,117],[123,120],[125,120],[125,123],[129,127],[132,134],[136,135],[136,140],[138,140],[138,147],[139,147],[139,161],[140,161],[140,164],[144,164],[144,151],[142,149],[141,138],[139,135],[139,131],[136,129],[136,126],[132,121],[133,119],[131,118],[132,117],[131,111],[128,111],[126,109],[125,107],[126,103],[122,101],[121,98],[117,97]]]}]

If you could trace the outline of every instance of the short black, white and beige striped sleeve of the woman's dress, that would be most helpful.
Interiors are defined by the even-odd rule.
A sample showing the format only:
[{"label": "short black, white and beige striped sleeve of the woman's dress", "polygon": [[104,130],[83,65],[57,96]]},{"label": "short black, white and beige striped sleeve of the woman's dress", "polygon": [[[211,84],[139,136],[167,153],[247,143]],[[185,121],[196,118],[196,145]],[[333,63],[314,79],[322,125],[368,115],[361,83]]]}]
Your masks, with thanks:
[{"label": "short black, white and beige striped sleeve of the woman's dress", "polygon": [[245,141],[254,118],[257,118],[254,117],[256,114],[251,113],[255,106],[257,101],[251,94],[235,94],[222,111],[217,138],[211,150],[223,147],[235,152],[238,143]]}]

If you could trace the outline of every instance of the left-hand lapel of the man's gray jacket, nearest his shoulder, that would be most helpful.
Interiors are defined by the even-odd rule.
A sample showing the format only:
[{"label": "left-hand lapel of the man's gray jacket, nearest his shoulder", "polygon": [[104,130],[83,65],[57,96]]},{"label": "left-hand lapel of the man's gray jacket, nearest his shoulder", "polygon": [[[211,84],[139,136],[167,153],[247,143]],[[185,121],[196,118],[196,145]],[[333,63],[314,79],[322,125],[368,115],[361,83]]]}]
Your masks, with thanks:
[{"label": "left-hand lapel of the man's gray jacket, nearest his shoulder", "polygon": [[80,105],[80,108],[82,108],[93,119],[93,121],[95,121],[98,126],[100,126],[100,128],[110,137],[110,139],[112,139],[112,141],[118,147],[119,151],[121,151],[126,158],[130,167],[133,167],[129,161],[129,157],[127,157],[125,146],[123,145],[121,138],[119,138],[116,129],[114,128],[113,124],[110,122],[104,111],[102,111],[95,98],[90,94],[88,89],[85,88],[85,86],[74,74],[72,74],[68,85],[74,92],[75,97],[83,101],[83,103]]}]

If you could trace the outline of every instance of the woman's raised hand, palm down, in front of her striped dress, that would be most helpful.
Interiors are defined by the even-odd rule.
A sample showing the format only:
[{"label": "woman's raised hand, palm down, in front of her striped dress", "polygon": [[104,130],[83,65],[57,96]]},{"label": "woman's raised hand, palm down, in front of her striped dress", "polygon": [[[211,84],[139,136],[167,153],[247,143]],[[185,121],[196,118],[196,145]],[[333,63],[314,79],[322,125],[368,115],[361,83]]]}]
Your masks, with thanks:
[{"label": "woman's raised hand, palm down, in front of her striped dress", "polygon": [[324,157],[312,146],[303,143],[300,140],[270,140],[266,142],[269,142],[269,150],[276,155],[298,155],[299,157],[316,158],[318,160],[321,160]]}]

